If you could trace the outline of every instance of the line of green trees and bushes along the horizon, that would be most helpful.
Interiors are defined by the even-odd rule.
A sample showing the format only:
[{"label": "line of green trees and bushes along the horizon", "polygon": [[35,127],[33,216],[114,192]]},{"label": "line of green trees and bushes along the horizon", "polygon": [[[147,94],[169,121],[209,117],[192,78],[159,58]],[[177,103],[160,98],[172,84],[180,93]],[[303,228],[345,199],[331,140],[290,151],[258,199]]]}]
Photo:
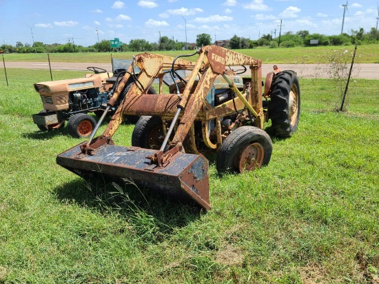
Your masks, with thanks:
[{"label": "line of green trees and bushes along the horizon", "polygon": [[[286,32],[273,37],[273,34],[263,34],[258,40],[251,40],[245,37],[238,37],[236,34],[229,40],[223,40],[223,47],[230,49],[256,48],[258,46],[266,46],[269,48],[293,48],[296,46],[311,45],[349,45],[362,43],[378,43],[379,32],[376,28],[371,28],[369,32],[365,32],[363,28],[359,30],[351,30],[350,34],[343,33],[339,35],[326,36],[325,34],[310,34],[308,30],[299,30],[296,33]],[[212,44],[210,34],[198,34],[196,36],[196,44],[185,43],[183,41],[174,41],[169,37],[160,37],[158,42],[146,41],[145,39],[132,39],[129,44],[123,44],[118,51],[125,52],[145,52],[159,50],[183,50],[201,48],[205,45]],[[74,43],[53,43],[45,44],[41,41],[35,41],[32,45],[17,41],[16,45],[4,43],[0,46],[0,52],[6,53],[45,53],[45,52],[111,52],[114,51],[110,47],[109,40],[102,40],[94,45],[84,47],[75,45]]]}]

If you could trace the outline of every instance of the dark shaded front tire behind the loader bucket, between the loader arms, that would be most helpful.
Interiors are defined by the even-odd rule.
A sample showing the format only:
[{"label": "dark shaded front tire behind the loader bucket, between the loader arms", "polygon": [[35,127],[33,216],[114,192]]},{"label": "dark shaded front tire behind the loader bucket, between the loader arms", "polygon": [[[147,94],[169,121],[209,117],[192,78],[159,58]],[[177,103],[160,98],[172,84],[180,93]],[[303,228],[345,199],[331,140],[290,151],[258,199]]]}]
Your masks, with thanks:
[{"label": "dark shaded front tire behind the loader bucket, between the loader arms", "polygon": [[159,150],[164,139],[161,118],[158,116],[141,116],[134,126],[132,146]]}]

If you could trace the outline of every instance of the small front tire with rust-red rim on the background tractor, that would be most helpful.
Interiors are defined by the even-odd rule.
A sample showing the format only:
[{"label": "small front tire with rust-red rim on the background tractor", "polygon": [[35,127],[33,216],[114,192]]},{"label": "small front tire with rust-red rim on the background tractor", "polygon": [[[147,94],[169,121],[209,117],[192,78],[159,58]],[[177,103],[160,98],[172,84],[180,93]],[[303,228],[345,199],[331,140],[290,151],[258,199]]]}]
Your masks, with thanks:
[{"label": "small front tire with rust-red rim on the background tractor", "polygon": [[96,126],[96,121],[89,114],[74,114],[68,121],[68,134],[74,138],[90,136]]}]

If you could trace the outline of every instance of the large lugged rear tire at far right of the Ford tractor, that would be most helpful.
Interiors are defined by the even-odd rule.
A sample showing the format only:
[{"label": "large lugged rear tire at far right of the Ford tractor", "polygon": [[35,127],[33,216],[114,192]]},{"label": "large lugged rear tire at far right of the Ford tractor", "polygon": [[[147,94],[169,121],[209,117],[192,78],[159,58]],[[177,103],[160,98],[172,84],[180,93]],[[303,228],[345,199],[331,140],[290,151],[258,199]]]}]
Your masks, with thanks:
[{"label": "large lugged rear tire at far right of the Ford tractor", "polygon": [[269,119],[276,135],[288,137],[298,128],[300,116],[300,85],[294,71],[276,74],[272,82]]}]

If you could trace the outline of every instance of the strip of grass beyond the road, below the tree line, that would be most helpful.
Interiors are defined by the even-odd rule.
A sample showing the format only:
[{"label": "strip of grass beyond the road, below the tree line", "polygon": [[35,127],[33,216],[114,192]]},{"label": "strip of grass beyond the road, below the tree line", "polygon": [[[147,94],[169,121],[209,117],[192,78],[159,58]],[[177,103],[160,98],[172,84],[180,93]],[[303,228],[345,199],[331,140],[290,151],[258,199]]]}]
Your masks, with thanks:
[{"label": "strip of grass beyond the road, below the tree line", "polygon": [[[249,50],[236,50],[251,57],[262,59],[263,63],[300,64],[300,63],[320,63],[323,62],[327,54],[334,51],[344,52],[354,51],[353,45],[347,46],[318,46],[311,48],[254,48]],[[119,59],[132,59],[132,56],[141,52],[112,52],[112,57]],[[191,54],[193,51],[167,51],[155,52],[176,57],[179,54]],[[5,54],[6,61],[41,61],[47,62],[47,54]],[[189,57],[189,60],[196,61],[197,56]],[[88,62],[88,63],[109,63],[111,54],[107,52],[99,53],[52,53],[52,62]],[[379,63],[379,44],[359,45],[356,55],[356,63]]]}]

